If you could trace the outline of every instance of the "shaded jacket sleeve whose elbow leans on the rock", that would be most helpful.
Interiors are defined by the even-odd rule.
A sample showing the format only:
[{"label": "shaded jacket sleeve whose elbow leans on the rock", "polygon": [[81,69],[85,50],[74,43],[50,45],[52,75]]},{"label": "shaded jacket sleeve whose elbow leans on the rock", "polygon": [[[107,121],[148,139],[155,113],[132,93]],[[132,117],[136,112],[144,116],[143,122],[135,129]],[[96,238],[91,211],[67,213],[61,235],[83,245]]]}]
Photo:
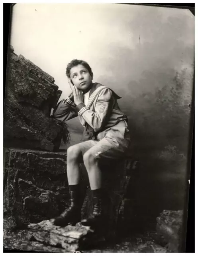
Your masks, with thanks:
[{"label": "shaded jacket sleeve whose elbow leans on the rock", "polygon": [[63,99],[57,104],[51,117],[65,122],[76,116],[78,116],[76,104],[73,102],[73,94],[70,94],[66,100]]}]

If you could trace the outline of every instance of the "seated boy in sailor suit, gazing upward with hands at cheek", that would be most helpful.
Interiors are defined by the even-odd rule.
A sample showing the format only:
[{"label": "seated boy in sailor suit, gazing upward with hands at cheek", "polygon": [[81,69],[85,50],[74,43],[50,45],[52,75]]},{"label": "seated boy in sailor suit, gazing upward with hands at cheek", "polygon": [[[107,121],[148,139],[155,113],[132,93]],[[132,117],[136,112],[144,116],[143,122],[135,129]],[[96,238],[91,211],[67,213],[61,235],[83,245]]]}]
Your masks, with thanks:
[{"label": "seated boy in sailor suit, gazing upward with hands at cheek", "polygon": [[[55,218],[57,226],[75,225],[81,220],[80,168],[84,163],[93,196],[93,212],[81,223],[92,226],[102,220],[100,161],[118,160],[129,147],[127,117],[120,111],[120,97],[110,88],[92,83],[93,73],[87,62],[72,60],[66,69],[72,93],[53,110],[53,118],[67,121],[76,116],[83,125],[85,141],[67,149],[67,177],[70,207]],[[113,177],[112,177],[113,178]]]}]

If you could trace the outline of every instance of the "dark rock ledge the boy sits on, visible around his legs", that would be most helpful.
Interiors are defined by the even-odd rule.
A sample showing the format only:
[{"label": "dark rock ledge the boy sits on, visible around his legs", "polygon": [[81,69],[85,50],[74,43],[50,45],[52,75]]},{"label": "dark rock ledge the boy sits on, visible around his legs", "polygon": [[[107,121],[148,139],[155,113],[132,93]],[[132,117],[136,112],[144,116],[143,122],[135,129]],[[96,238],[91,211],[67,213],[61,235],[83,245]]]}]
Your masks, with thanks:
[{"label": "dark rock ledge the boy sits on, visible around his legs", "polygon": [[[46,152],[7,149],[4,157],[4,198],[8,216],[18,228],[58,216],[68,207],[66,152]],[[106,236],[116,234],[120,206],[130,179],[131,161],[122,160],[116,166],[103,166],[104,214]],[[92,211],[88,176],[82,170],[82,218]]]}]

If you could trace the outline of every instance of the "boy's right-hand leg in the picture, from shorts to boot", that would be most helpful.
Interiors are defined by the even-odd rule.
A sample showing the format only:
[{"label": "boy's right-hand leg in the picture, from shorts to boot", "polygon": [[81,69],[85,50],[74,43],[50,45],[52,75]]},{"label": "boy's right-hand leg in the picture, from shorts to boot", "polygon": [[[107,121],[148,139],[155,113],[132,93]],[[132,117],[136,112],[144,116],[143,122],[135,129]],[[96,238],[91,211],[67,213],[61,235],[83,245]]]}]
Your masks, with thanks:
[{"label": "boy's right-hand leg in the picture, from shorts to boot", "polygon": [[103,138],[98,143],[87,150],[83,155],[84,165],[88,172],[90,187],[93,196],[93,212],[90,216],[82,220],[84,226],[100,226],[102,218],[102,189],[101,189],[101,170],[99,161],[109,162],[118,160],[127,149],[128,142],[124,140],[118,142],[112,138]]}]

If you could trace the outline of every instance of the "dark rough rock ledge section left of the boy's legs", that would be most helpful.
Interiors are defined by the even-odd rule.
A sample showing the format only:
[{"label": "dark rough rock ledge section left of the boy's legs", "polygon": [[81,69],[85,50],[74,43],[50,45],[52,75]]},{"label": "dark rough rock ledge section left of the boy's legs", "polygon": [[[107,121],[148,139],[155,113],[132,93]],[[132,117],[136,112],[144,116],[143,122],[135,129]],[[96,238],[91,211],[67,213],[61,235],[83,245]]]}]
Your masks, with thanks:
[{"label": "dark rough rock ledge section left of the boy's legs", "polygon": [[4,201],[18,228],[52,218],[69,203],[66,154],[7,149]]}]

